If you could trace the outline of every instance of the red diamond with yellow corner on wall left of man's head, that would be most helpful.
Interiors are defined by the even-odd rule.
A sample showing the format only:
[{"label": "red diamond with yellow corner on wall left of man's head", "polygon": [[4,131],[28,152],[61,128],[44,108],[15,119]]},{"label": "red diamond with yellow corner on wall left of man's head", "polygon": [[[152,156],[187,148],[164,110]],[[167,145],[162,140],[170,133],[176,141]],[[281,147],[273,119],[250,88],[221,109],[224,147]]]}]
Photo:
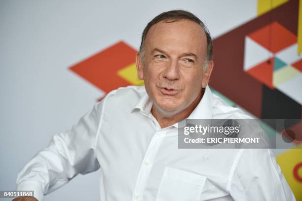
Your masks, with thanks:
[{"label": "red diamond with yellow corner on wall left of man's head", "polygon": [[119,41],[73,65],[70,70],[105,93],[121,86],[143,85],[136,73],[136,54],[136,49]]}]

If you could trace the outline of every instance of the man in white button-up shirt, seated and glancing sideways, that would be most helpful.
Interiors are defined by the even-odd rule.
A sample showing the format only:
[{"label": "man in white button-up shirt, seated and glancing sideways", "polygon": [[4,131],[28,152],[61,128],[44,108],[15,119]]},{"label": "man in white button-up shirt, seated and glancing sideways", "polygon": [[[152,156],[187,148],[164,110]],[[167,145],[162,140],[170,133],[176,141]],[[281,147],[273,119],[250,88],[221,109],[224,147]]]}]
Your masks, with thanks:
[{"label": "man in white button-up shirt, seated and glancing sideways", "polygon": [[178,149],[184,119],[250,119],[207,86],[212,41],[196,16],[156,16],[136,66],[145,86],[110,92],[71,130],[54,135],[20,171],[17,190],[34,190],[32,201],[41,201],[101,168],[101,201],[295,200],[269,149]]}]

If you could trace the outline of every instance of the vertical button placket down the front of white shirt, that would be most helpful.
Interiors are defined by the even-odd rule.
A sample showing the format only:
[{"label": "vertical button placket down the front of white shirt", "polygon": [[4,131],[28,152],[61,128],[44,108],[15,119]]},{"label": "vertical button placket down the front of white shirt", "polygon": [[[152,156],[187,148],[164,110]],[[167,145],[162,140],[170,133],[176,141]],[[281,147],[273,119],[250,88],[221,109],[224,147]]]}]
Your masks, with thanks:
[{"label": "vertical button placket down the front of white shirt", "polygon": [[152,167],[153,160],[155,158],[155,155],[158,151],[158,148],[163,140],[163,136],[165,133],[163,131],[156,132],[149,144],[149,147],[147,149],[147,152],[145,154],[144,160],[141,164],[141,168],[139,171],[138,178],[136,180],[135,188],[134,188],[134,195],[132,200],[137,201],[140,200],[143,196],[146,182]]}]

